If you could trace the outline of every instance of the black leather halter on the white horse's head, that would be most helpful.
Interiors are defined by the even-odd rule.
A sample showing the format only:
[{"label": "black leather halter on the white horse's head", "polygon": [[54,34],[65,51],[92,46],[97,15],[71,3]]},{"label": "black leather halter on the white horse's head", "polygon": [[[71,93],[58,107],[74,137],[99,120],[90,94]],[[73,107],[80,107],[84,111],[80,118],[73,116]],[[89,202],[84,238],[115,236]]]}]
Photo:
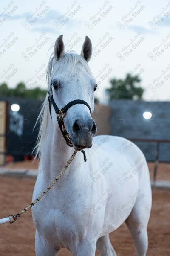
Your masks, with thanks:
[{"label": "black leather halter on the white horse's head", "polygon": [[[82,99],[75,99],[75,100],[69,102],[67,105],[65,105],[65,107],[59,109],[57,107],[55,101],[54,101],[53,92],[52,92],[51,86],[50,86],[50,90],[49,90],[48,101],[49,101],[50,116],[51,116],[51,105],[53,105],[54,110],[55,110],[55,112],[57,114],[57,121],[58,121],[58,124],[59,124],[59,128],[60,128],[60,130],[62,132],[62,135],[65,138],[65,141],[66,141],[67,145],[70,146],[70,147],[73,147],[73,145],[71,143],[70,136],[69,136],[68,132],[65,130],[65,126],[64,126],[64,122],[63,122],[63,118],[65,116],[65,113],[68,110],[68,108],[70,108],[71,106],[73,106],[75,104],[84,104],[84,105],[86,105],[89,108],[90,113],[91,113],[90,106],[88,105],[87,102],[85,102]],[[82,150],[82,153],[84,154],[84,160],[86,162],[85,151]]]}]

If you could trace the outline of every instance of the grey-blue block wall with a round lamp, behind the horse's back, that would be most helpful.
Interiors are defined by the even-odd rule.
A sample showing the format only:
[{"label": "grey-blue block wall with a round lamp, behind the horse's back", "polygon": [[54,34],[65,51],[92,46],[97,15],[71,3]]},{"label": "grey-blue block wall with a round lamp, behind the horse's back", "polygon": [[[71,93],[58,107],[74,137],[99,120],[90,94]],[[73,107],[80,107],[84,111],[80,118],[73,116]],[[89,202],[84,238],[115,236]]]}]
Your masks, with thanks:
[{"label": "grey-blue block wall with a round lamp, behind the horse's back", "polygon": [[[148,161],[155,160],[159,140],[170,140],[170,102],[113,100],[111,106],[111,134],[129,138],[154,139],[156,142],[134,142]],[[152,113],[144,119],[143,113]],[[170,161],[170,143],[160,143],[160,161]]]}]

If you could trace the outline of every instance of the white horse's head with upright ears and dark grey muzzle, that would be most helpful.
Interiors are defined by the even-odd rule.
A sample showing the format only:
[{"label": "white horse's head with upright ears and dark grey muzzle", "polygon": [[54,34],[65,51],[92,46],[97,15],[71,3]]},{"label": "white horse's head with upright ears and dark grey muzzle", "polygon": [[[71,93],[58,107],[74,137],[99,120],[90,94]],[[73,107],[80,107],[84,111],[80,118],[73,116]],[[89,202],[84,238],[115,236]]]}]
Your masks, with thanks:
[{"label": "white horse's head with upright ears and dark grey muzzle", "polygon": [[92,55],[92,44],[86,36],[80,55],[67,53],[62,37],[60,35],[55,42],[51,64],[51,118],[57,127],[57,119],[62,123],[63,136],[68,135],[70,144],[80,151],[92,146],[92,138],[96,134],[96,124],[91,113],[94,111],[97,84],[87,64]]}]

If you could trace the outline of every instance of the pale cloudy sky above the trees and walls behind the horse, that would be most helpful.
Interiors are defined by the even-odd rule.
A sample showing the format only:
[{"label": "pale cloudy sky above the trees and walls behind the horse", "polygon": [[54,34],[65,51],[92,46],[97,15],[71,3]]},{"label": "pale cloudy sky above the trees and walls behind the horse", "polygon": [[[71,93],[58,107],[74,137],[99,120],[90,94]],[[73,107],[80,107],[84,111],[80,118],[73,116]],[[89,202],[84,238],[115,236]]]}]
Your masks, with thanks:
[{"label": "pale cloudy sky above the trees and walls behind the horse", "polygon": [[47,88],[45,69],[56,38],[81,52],[91,38],[89,65],[105,102],[110,79],[139,74],[144,99],[170,96],[170,0],[1,0],[0,83]]}]

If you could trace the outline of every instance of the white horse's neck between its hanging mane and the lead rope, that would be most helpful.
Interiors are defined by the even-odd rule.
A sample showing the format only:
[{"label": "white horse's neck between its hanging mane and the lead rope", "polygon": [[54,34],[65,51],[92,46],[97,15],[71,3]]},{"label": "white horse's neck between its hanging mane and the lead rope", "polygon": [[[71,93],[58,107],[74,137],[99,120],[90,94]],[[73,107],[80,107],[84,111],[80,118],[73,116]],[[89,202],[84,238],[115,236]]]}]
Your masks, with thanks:
[{"label": "white horse's neck between its hanging mane and the lead rope", "polygon": [[[48,125],[40,160],[40,169],[42,166],[47,182],[53,180],[61,172],[73,151],[74,148],[66,144],[59,126],[57,128],[54,127],[51,116],[48,115]],[[74,164],[72,163],[71,165],[73,166]]]}]

